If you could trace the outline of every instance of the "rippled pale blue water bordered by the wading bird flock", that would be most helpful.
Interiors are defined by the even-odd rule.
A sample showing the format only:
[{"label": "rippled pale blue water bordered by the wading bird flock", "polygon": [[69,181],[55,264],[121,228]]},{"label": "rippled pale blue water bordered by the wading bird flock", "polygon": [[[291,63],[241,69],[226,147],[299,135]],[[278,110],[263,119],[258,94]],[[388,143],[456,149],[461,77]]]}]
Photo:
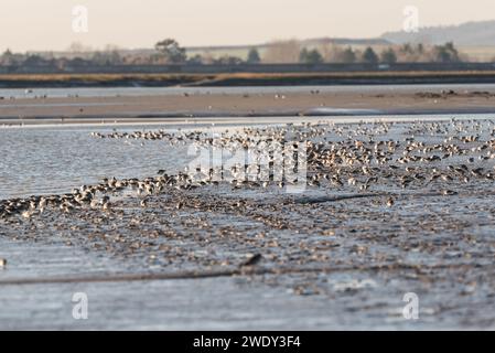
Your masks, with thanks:
[{"label": "rippled pale blue water bordered by the wading bird flock", "polygon": [[[402,116],[369,118],[373,120],[445,120],[493,119],[493,115]],[[271,119],[271,120],[270,120]],[[263,124],[280,120],[262,119]],[[304,118],[308,120],[308,118]],[[363,117],[333,117],[335,122],[367,120]],[[313,119],[314,122],[321,118]],[[302,121],[302,120],[301,120]],[[243,122],[241,125],[246,125]],[[239,126],[241,126],[239,125]],[[201,126],[197,127],[200,129]],[[0,200],[33,194],[67,193],[83,184],[95,184],[103,178],[144,178],[159,170],[169,173],[183,171],[195,159],[189,145],[171,146],[166,140],[95,139],[93,131],[195,129],[194,125],[121,125],[121,126],[41,126],[0,128]],[[201,127],[203,130],[204,125]],[[215,130],[233,130],[232,124],[218,125]],[[209,128],[211,129],[211,128]],[[400,135],[402,131],[397,130]],[[397,136],[387,136],[397,138]],[[332,140],[332,138],[330,138]]]}]

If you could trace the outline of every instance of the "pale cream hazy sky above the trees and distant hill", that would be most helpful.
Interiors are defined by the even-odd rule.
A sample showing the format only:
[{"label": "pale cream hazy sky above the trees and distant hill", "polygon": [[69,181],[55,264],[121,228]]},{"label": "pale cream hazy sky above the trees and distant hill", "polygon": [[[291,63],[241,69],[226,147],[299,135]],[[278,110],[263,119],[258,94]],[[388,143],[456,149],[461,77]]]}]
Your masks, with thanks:
[{"label": "pale cream hazy sky above the trees and distant hill", "polygon": [[[372,38],[400,30],[416,6],[419,25],[495,19],[494,0],[1,0],[0,51],[258,44],[275,39]],[[73,31],[73,8],[88,10],[88,32]]]}]

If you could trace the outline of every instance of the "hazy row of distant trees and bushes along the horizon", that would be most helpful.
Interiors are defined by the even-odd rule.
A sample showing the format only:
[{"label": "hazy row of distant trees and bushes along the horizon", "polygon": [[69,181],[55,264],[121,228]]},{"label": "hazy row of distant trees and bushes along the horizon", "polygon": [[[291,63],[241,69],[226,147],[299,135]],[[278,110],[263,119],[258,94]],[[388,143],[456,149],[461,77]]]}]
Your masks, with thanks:
[{"label": "hazy row of distant trees and bushes along the horizon", "polygon": [[[366,63],[366,64],[395,64],[399,62],[426,62],[426,63],[455,63],[467,61],[460,54],[454,43],[443,45],[403,44],[381,49],[379,52],[367,46],[355,49],[326,44],[320,47],[302,46],[298,41],[278,41],[261,50],[251,47],[246,57],[235,55],[222,55],[215,57],[209,53],[187,55],[186,49],[173,39],[165,39],[154,45],[151,54],[122,54],[116,47],[105,51],[96,51],[90,54],[73,57],[54,57],[40,54],[19,54],[7,50],[0,55],[0,65],[7,66],[51,66],[64,68],[65,66],[93,66],[93,65],[159,65],[159,64],[220,64],[237,65],[243,63]],[[83,57],[84,56],[84,57]]]}]

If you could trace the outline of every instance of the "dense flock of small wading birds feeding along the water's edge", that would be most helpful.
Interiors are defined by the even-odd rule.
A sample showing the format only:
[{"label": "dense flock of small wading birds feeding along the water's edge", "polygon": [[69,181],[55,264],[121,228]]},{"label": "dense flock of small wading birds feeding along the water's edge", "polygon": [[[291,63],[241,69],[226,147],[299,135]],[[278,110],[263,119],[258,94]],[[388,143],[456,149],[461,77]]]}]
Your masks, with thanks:
[{"label": "dense flock of small wading birds feeding along the water's edge", "polygon": [[[413,122],[359,122],[359,124],[301,124],[246,127],[217,137],[204,131],[168,132],[134,131],[103,135],[94,138],[165,140],[171,145],[195,143],[202,148],[245,149],[262,143],[279,142],[293,148],[304,146],[308,188],[321,188],[331,192],[381,191],[387,206],[394,197],[387,191],[398,189],[434,190],[444,195],[456,194],[455,186],[472,181],[495,181],[495,121],[446,120]],[[391,137],[396,137],[396,139]],[[290,137],[290,138],[289,138]],[[293,149],[286,153],[292,153]],[[279,153],[268,153],[269,170],[258,174],[246,173],[252,165],[241,163],[223,167],[200,168],[169,175],[160,170],[157,176],[142,180],[105,178],[94,185],[82,185],[62,195],[33,195],[24,199],[0,201],[0,221],[29,220],[41,216],[46,208],[63,213],[77,210],[100,208],[112,211],[112,196],[132,190],[142,207],[148,197],[176,189],[187,197],[187,192],[201,186],[232,185],[233,190],[284,188],[300,180],[283,176],[275,180],[273,170],[281,163]],[[295,171],[298,160],[290,164]],[[266,172],[266,171],[265,171]],[[229,178],[225,175],[229,174]],[[452,190],[454,189],[454,190]],[[459,188],[458,188],[459,190]],[[183,207],[183,202],[175,205]]]}]

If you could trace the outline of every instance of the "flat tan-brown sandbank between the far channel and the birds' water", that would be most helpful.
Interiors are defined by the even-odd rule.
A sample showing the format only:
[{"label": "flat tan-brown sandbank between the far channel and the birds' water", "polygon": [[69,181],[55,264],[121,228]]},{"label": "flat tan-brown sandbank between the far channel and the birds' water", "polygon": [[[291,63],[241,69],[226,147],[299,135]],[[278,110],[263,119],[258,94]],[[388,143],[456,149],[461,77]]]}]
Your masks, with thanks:
[{"label": "flat tan-brown sandbank between the far channel and the birds' water", "polygon": [[[280,88],[275,93],[202,93],[0,100],[0,124],[149,121],[163,118],[494,113],[495,88],[411,88],[368,92]],[[276,88],[277,89],[277,88]],[[67,120],[67,121],[66,121]]]}]

